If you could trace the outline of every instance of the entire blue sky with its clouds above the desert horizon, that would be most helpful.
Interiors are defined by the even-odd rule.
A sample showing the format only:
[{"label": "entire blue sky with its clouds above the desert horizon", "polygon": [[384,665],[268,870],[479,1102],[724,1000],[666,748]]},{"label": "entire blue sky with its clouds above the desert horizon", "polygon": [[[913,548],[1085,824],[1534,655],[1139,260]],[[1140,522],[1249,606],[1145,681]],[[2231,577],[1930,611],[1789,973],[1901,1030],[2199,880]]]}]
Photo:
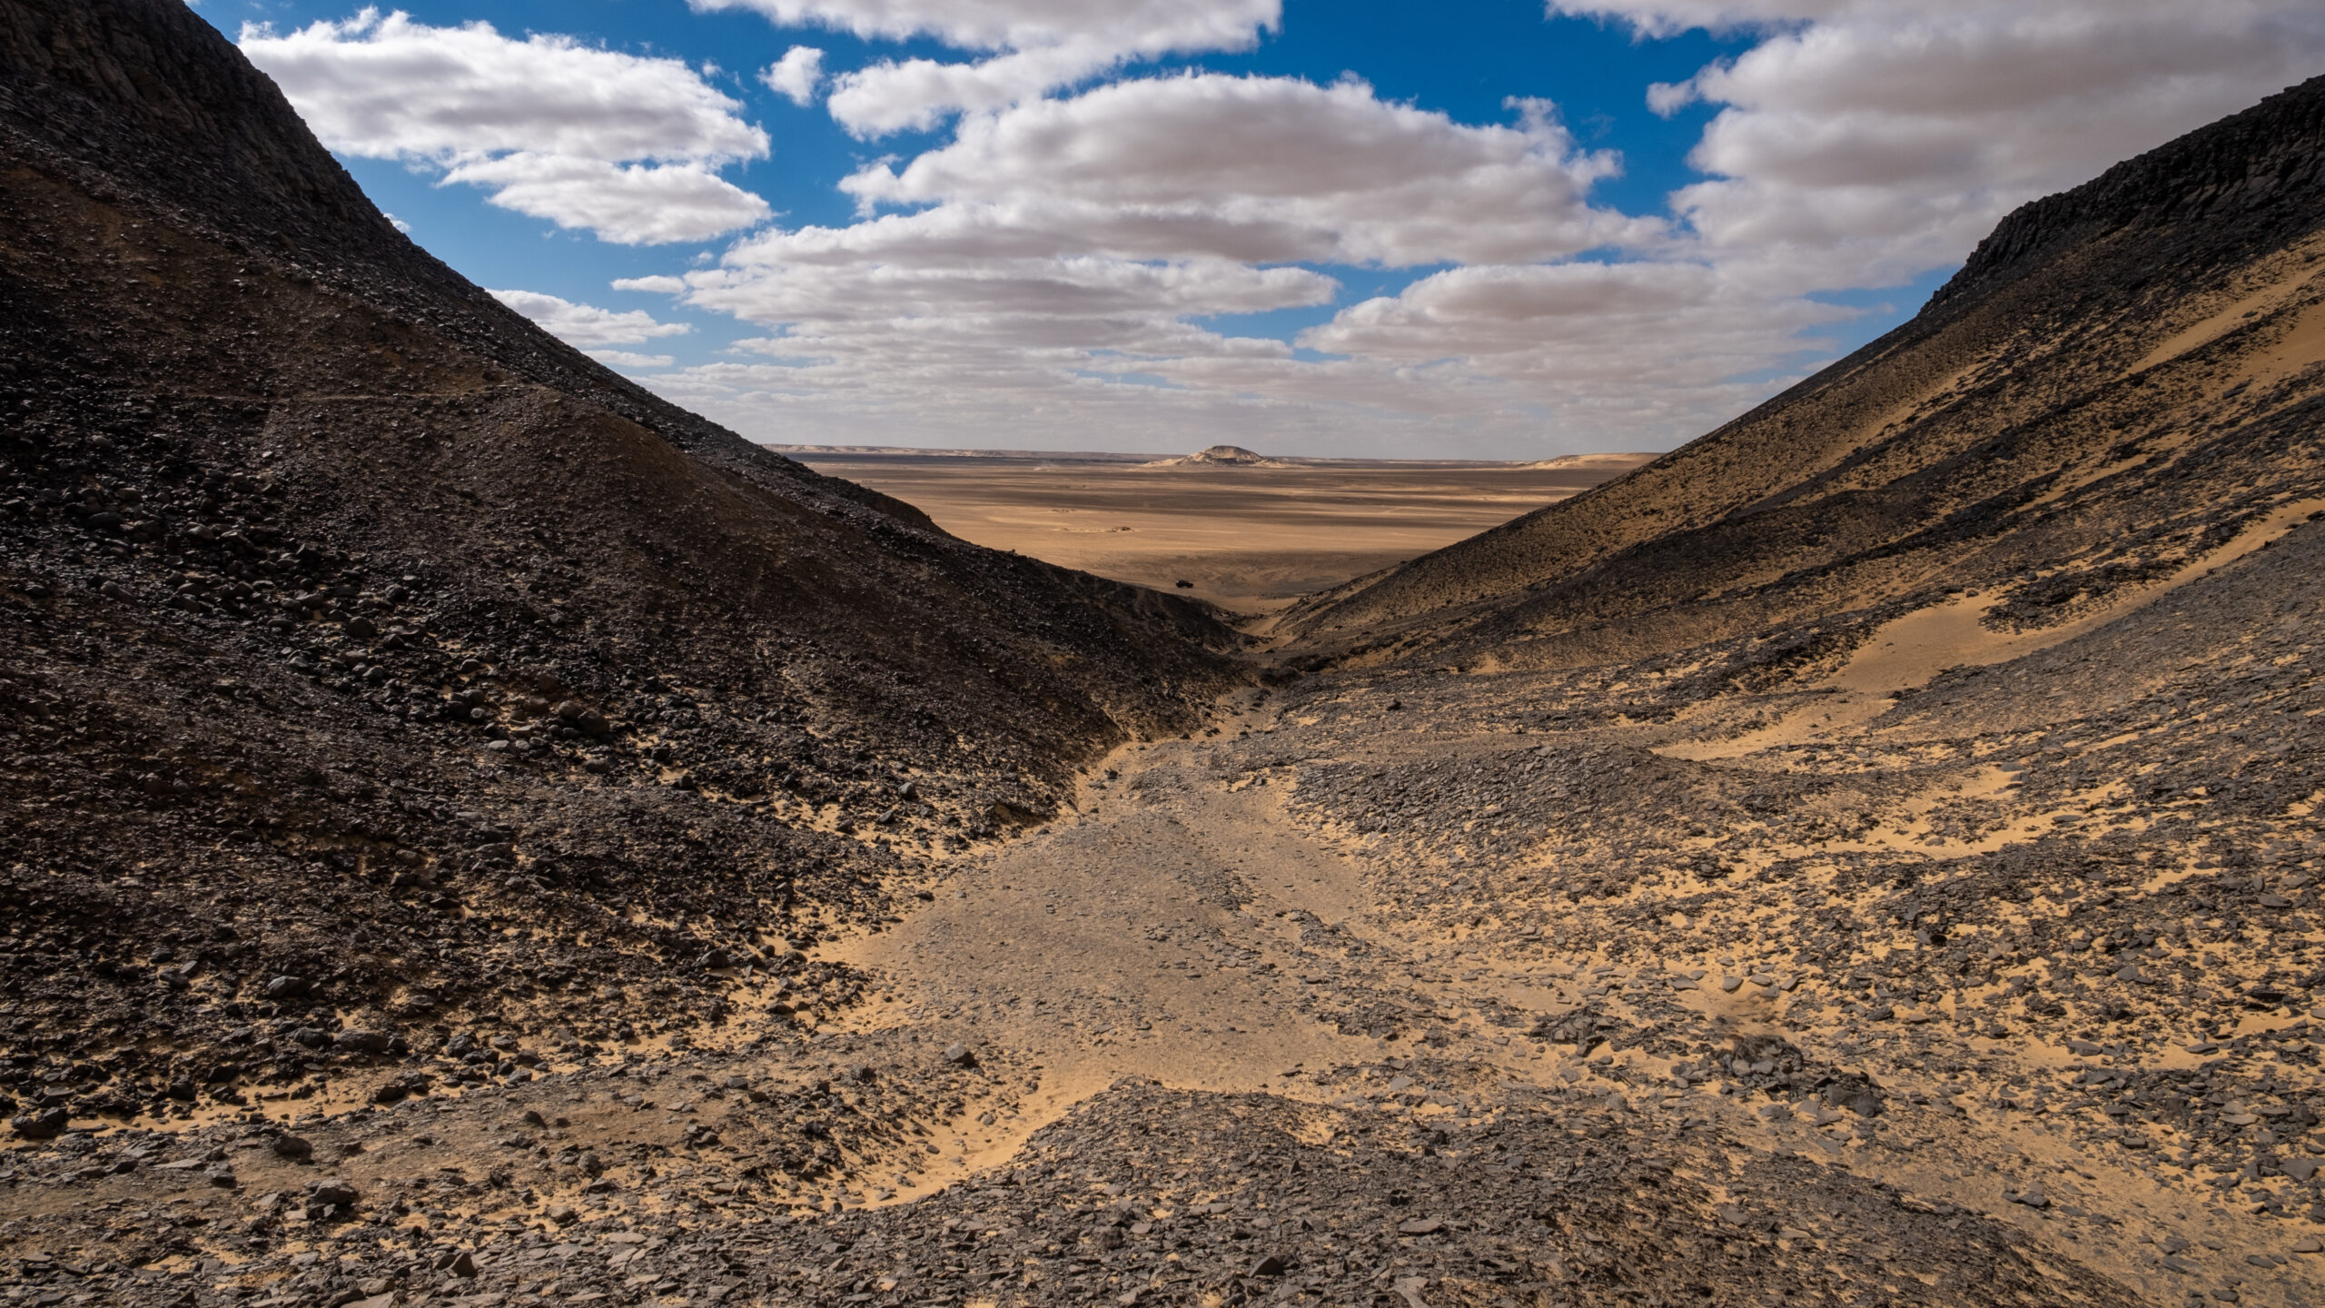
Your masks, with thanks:
[{"label": "entire blue sky with its clouds above the desert horizon", "polygon": [[2011,205],[2325,70],[2267,0],[698,5],[200,12],[416,242],[649,386],[1016,449],[1669,447]]}]

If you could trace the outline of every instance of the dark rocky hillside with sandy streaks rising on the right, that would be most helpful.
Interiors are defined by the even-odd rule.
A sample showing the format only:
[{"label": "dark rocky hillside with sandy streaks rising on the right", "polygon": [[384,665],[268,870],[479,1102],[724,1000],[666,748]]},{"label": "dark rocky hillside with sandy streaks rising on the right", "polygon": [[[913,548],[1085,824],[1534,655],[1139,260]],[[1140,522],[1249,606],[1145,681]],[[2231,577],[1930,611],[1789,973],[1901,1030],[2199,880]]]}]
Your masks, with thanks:
[{"label": "dark rocky hillside with sandy streaks rising on the right", "polygon": [[1895,333],[1283,631],[1311,659],[1555,666],[1967,587],[2013,624],[2088,612],[2311,493],[2320,223],[2325,79],[2027,205]]}]

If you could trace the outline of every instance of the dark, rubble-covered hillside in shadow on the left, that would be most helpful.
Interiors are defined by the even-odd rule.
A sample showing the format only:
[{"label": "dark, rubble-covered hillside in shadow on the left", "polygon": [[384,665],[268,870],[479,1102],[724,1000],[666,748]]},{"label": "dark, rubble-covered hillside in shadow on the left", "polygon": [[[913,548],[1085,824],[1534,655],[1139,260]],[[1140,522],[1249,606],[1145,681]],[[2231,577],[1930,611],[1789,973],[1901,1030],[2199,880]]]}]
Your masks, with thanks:
[{"label": "dark, rubble-covered hillside in shadow on the left", "polygon": [[[716,1022],[704,959],[879,917],[1228,677],[1202,605],[514,317],[184,5],[0,9],[0,1043],[74,1103],[305,1085],[472,1003],[609,1038],[623,980]],[[267,1017],[319,1036],[212,1043]]]}]

